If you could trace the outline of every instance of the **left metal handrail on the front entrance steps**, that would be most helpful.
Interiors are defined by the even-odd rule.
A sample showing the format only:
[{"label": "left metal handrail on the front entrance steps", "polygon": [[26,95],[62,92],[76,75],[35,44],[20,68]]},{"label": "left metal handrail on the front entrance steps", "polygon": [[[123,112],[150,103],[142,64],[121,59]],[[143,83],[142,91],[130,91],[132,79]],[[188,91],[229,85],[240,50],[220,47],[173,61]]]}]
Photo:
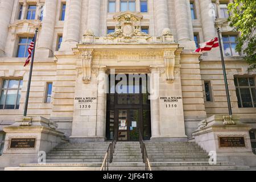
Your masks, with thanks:
[{"label": "left metal handrail on the front entrance steps", "polygon": [[106,151],[104,160],[101,164],[100,171],[109,171],[109,164],[113,162],[113,154],[115,152],[116,143],[117,143],[117,139],[114,137],[112,143],[109,144],[108,150]]}]

